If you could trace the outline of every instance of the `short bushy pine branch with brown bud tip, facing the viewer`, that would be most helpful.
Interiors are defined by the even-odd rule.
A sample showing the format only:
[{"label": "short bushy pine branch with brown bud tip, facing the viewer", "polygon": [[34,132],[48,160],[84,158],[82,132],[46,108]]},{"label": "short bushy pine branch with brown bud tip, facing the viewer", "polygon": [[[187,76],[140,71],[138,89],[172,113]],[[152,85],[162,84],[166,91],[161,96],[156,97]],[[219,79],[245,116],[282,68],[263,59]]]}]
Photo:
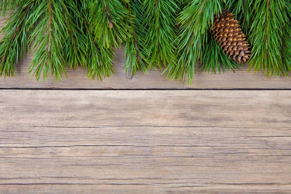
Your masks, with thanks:
[{"label": "short bushy pine branch with brown bud tip, facing the viewer", "polygon": [[[129,2],[128,0],[123,0]],[[133,16],[119,0],[90,0],[90,25],[93,25],[95,40],[105,48],[120,48],[121,43],[132,38]]]}]

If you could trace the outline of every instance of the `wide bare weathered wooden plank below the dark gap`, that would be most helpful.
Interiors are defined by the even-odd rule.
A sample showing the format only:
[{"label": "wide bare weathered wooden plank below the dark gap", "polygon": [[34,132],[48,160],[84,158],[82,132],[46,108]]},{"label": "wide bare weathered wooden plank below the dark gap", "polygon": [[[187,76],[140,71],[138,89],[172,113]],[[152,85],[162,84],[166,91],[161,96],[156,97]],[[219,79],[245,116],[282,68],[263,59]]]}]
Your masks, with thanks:
[{"label": "wide bare weathered wooden plank below the dark gap", "polygon": [[290,99],[0,90],[0,193],[290,194]]}]

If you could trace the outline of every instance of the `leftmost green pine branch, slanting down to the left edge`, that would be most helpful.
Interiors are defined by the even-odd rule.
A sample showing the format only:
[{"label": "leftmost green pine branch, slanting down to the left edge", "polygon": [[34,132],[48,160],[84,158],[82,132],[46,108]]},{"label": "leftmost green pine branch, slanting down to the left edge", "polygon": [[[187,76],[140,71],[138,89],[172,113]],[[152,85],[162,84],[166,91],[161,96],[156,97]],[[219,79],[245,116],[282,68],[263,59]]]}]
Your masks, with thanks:
[{"label": "leftmost green pine branch, slanting down to the left edge", "polygon": [[18,4],[14,14],[7,20],[7,25],[1,30],[4,37],[0,41],[0,76],[14,76],[15,65],[24,58],[28,50],[27,37],[31,34],[31,28],[26,18],[34,9],[32,0]]}]

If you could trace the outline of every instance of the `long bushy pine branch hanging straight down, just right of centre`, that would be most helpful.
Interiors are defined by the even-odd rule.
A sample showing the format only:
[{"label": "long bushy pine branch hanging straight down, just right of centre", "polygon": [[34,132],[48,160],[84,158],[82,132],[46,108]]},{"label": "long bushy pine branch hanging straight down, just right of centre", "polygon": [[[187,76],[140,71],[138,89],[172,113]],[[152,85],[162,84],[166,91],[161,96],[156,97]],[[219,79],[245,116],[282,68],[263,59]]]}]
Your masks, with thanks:
[{"label": "long bushy pine branch hanging straight down, just right of centre", "polygon": [[[148,26],[146,43],[151,66],[162,69],[176,62],[176,15],[175,0],[144,0],[145,25]],[[151,67],[150,66],[150,67]]]}]

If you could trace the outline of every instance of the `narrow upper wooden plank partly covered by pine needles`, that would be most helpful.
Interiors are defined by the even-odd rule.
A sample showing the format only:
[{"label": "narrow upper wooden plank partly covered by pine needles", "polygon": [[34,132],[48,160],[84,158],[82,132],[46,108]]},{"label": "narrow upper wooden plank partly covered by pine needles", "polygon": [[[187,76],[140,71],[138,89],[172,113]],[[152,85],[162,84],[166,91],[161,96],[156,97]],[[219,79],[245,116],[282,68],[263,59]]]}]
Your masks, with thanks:
[{"label": "narrow upper wooden plank partly covered by pine needles", "polygon": [[[5,19],[0,20],[0,28],[4,26]],[[187,81],[169,81],[161,71],[150,70],[148,74],[132,77],[127,75],[123,69],[125,61],[123,60],[124,49],[115,50],[116,61],[114,61],[115,74],[111,78],[101,81],[87,79],[86,70],[79,68],[76,71],[67,73],[68,79],[54,82],[50,77],[45,82],[36,82],[34,77],[28,75],[28,67],[32,56],[28,54],[23,65],[16,66],[16,76],[14,78],[0,78],[0,88],[60,88],[60,89],[291,89],[291,79],[284,77],[265,77],[264,74],[254,72],[247,73],[247,66],[244,65],[241,70],[233,73],[226,71],[222,74],[205,74],[198,71],[195,75],[193,85],[187,84]],[[198,69],[201,67],[198,64]],[[187,79],[186,79],[187,80]]]}]

